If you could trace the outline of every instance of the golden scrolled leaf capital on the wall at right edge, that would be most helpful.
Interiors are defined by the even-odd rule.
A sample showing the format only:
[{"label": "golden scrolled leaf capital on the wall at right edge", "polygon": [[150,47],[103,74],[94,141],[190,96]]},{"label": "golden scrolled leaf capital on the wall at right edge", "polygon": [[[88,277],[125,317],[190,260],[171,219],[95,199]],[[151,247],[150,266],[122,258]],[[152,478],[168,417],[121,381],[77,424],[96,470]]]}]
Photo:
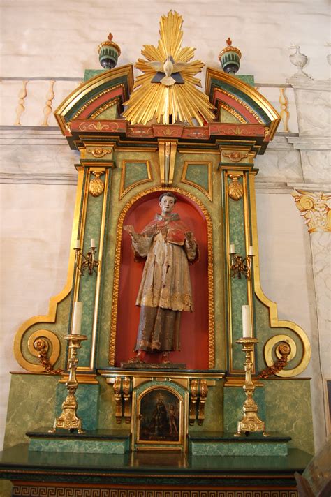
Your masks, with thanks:
[{"label": "golden scrolled leaf capital on the wall at right edge", "polygon": [[291,195],[309,233],[331,232],[331,193],[294,190]]}]

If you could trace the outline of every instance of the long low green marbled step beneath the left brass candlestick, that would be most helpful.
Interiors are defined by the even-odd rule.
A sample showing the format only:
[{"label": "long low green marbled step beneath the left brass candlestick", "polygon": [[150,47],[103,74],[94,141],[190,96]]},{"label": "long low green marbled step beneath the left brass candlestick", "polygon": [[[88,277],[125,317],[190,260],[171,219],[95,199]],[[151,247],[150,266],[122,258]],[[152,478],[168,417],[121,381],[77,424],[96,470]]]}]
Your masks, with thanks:
[{"label": "long low green marbled step beneath the left brass candlestick", "polygon": [[124,454],[128,440],[30,440],[29,451],[83,452],[84,454]]}]

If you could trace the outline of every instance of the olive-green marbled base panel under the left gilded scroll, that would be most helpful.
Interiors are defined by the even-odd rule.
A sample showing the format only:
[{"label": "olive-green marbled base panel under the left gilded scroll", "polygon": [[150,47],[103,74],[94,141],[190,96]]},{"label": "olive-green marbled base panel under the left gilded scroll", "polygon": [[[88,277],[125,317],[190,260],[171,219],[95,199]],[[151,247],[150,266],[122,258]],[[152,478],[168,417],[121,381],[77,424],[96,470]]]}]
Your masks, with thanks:
[{"label": "olive-green marbled base panel under the left gilded scroll", "polygon": [[10,382],[4,447],[27,442],[27,431],[54,423],[58,376],[13,374]]}]

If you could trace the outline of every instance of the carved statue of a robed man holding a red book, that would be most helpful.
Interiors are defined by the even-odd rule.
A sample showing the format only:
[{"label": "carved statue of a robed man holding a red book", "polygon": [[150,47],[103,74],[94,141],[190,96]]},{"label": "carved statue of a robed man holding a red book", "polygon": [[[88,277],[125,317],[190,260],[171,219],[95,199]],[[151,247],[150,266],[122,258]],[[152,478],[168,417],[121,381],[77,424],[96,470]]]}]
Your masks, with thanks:
[{"label": "carved statue of a robed man holding a red book", "polygon": [[159,197],[161,214],[141,233],[133,226],[131,235],[135,258],[146,258],[136,300],[140,306],[136,355],[129,362],[146,362],[147,353],[162,352],[163,363],[169,353],[179,350],[179,324],[182,311],[193,311],[189,264],[199,258],[191,230],[173,213],[177,199],[172,192]]}]

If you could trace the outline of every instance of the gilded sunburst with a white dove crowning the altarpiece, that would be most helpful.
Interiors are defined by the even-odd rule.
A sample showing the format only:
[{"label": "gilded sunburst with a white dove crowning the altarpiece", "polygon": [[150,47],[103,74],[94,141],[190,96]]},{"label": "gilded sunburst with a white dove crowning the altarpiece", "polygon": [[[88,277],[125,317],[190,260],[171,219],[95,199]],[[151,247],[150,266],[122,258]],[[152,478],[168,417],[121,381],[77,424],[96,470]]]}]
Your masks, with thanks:
[{"label": "gilded sunburst with a white dove crowning the altarpiece", "polygon": [[[170,10],[160,20],[160,40],[157,47],[144,45],[135,67],[142,71],[133,92],[124,103],[128,107],[123,116],[131,124],[147,124],[156,119],[159,124],[175,121],[194,125],[194,119],[203,126],[214,120],[214,106],[196,87],[201,87],[197,73],[203,62],[191,61],[195,48],[182,47],[183,18]],[[191,61],[191,62],[190,62]]]}]

